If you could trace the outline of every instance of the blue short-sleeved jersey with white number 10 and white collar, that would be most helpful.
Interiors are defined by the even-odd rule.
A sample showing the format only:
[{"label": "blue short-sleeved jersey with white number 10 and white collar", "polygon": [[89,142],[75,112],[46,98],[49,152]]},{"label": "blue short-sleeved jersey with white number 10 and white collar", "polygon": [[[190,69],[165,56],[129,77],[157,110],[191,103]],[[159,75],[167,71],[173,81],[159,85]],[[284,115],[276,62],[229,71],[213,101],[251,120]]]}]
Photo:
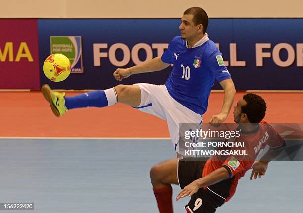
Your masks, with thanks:
[{"label": "blue short-sleeved jersey with white number 10 and white collar", "polygon": [[220,82],[231,78],[221,52],[207,34],[192,48],[181,36],[174,37],[161,59],[174,65],[165,83],[169,94],[201,115],[206,112],[215,79]]}]

